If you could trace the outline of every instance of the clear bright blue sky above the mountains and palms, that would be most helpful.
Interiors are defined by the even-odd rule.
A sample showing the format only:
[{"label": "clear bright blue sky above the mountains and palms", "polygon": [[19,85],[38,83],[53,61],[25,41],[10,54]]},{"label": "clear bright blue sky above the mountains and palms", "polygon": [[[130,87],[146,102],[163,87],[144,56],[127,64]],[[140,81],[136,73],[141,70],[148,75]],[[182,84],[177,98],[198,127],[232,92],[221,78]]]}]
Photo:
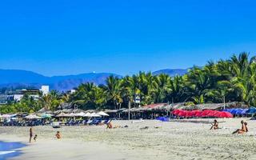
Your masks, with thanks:
[{"label": "clear bright blue sky above the mountains and palms", "polygon": [[2,1],[0,68],[45,75],[202,66],[256,51],[254,1]]}]

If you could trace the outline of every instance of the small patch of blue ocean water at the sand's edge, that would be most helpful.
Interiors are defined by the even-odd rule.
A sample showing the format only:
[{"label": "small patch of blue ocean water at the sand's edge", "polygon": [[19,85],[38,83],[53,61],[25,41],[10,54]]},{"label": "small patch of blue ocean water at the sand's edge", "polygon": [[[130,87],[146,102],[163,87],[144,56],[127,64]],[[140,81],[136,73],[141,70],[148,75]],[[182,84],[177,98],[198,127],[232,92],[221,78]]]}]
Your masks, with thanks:
[{"label": "small patch of blue ocean water at the sand's edge", "polygon": [[22,154],[18,149],[26,146],[21,142],[1,142],[0,141],[0,160],[6,160]]}]

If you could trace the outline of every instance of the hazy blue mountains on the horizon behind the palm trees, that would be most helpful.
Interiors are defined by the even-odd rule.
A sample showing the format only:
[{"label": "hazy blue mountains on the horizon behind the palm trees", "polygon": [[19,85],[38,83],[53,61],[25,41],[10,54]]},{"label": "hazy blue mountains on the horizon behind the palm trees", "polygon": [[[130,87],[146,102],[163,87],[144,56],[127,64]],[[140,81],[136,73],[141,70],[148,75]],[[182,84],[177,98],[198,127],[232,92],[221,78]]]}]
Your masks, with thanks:
[{"label": "hazy blue mountains on the horizon behind the palm trees", "polygon": [[[187,70],[184,69],[165,69],[153,72],[157,74],[183,75]],[[65,76],[47,77],[27,70],[0,70],[0,88],[2,87],[39,87],[49,85],[50,90],[71,90],[84,82],[94,82],[95,84],[104,84],[106,78],[110,75],[122,77],[114,73],[87,73]]]}]

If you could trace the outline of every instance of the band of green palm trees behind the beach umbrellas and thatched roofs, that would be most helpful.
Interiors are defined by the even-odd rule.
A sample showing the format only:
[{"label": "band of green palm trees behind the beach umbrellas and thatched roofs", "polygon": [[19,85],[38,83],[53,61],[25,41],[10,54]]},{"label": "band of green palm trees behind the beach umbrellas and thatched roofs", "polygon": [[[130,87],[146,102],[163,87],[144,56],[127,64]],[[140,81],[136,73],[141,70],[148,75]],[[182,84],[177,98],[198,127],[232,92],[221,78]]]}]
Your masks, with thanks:
[{"label": "band of green palm trees behind the beach umbrellas and thatched roofs", "polygon": [[184,76],[171,78],[166,74],[158,76],[150,72],[139,72],[132,76],[118,78],[110,76],[106,85],[95,86],[87,82],[78,86],[74,94],[59,94],[51,91],[41,95],[39,100],[24,96],[21,102],[10,102],[0,106],[0,112],[34,112],[42,107],[55,110],[62,102],[70,102],[84,110],[119,109],[139,95],[141,105],[154,102],[245,102],[256,106],[256,58],[242,53],[228,60],[206,66],[194,66]]}]

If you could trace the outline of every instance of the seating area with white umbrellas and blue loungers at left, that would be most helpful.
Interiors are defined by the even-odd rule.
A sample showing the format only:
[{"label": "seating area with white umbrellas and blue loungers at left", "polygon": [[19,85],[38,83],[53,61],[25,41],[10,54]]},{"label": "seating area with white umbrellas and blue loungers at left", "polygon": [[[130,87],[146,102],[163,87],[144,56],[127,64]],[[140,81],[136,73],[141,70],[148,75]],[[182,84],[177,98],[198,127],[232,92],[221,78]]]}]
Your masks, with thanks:
[{"label": "seating area with white umbrellas and blue loungers at left", "polygon": [[64,112],[58,112],[58,114],[0,114],[0,126],[54,126],[54,122],[58,122],[58,126],[92,126],[110,122],[109,114],[105,112],[85,113],[79,111],[69,114]]}]

